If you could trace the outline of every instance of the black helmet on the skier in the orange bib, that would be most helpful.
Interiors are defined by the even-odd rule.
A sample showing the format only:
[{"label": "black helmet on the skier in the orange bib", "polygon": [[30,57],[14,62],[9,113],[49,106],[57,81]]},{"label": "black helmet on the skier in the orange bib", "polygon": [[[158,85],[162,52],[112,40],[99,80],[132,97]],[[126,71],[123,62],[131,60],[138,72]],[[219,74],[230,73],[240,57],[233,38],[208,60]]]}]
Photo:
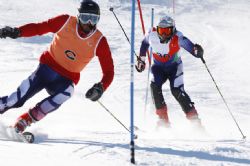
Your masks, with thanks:
[{"label": "black helmet on the skier in the orange bib", "polygon": [[79,13],[90,13],[100,15],[99,5],[92,0],[82,0],[78,11]]}]

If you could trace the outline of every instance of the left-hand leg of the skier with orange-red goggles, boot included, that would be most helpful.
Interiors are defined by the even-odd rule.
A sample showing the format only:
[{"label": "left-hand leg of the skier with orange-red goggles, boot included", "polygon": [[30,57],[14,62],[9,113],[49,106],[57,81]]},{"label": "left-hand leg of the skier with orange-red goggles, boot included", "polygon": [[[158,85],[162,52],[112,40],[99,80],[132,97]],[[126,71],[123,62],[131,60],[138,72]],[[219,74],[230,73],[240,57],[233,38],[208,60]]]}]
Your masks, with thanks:
[{"label": "left-hand leg of the skier with orange-red goggles, boot included", "polygon": [[162,94],[162,84],[166,81],[164,72],[158,66],[152,66],[153,80],[151,81],[151,95],[156,108],[156,114],[160,119],[169,123],[167,105]]}]

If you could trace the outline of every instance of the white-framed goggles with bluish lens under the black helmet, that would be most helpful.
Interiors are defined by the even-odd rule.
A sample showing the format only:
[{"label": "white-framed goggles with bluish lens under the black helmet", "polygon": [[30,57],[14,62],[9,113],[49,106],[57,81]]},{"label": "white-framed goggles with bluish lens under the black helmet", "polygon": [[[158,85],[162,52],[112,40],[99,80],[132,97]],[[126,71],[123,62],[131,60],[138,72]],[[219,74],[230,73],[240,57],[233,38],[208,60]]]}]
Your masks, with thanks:
[{"label": "white-framed goggles with bluish lens under the black helmet", "polygon": [[80,13],[77,17],[82,24],[90,23],[91,25],[96,25],[100,19],[100,15],[90,13]]}]

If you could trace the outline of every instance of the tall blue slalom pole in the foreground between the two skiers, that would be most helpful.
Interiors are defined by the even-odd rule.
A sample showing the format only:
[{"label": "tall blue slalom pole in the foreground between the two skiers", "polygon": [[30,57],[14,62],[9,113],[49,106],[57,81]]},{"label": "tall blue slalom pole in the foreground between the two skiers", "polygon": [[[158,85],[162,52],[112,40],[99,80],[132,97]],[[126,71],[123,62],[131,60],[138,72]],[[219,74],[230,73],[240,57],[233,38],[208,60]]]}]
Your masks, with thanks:
[{"label": "tall blue slalom pole in the foreground between the two skiers", "polygon": [[135,142],[134,142],[134,43],[135,43],[135,0],[132,0],[131,16],[131,76],[130,76],[130,162],[135,164]]}]

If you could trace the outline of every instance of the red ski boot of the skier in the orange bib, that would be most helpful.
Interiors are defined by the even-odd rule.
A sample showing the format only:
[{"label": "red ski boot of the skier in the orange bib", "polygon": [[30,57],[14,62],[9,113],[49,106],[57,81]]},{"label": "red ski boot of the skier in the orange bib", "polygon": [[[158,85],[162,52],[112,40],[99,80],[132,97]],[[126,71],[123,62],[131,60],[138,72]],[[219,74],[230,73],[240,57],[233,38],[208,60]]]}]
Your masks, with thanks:
[{"label": "red ski boot of the skier in the orange bib", "polygon": [[17,133],[23,133],[26,127],[30,126],[31,123],[33,123],[33,119],[30,117],[29,113],[26,112],[17,119],[13,128]]}]

